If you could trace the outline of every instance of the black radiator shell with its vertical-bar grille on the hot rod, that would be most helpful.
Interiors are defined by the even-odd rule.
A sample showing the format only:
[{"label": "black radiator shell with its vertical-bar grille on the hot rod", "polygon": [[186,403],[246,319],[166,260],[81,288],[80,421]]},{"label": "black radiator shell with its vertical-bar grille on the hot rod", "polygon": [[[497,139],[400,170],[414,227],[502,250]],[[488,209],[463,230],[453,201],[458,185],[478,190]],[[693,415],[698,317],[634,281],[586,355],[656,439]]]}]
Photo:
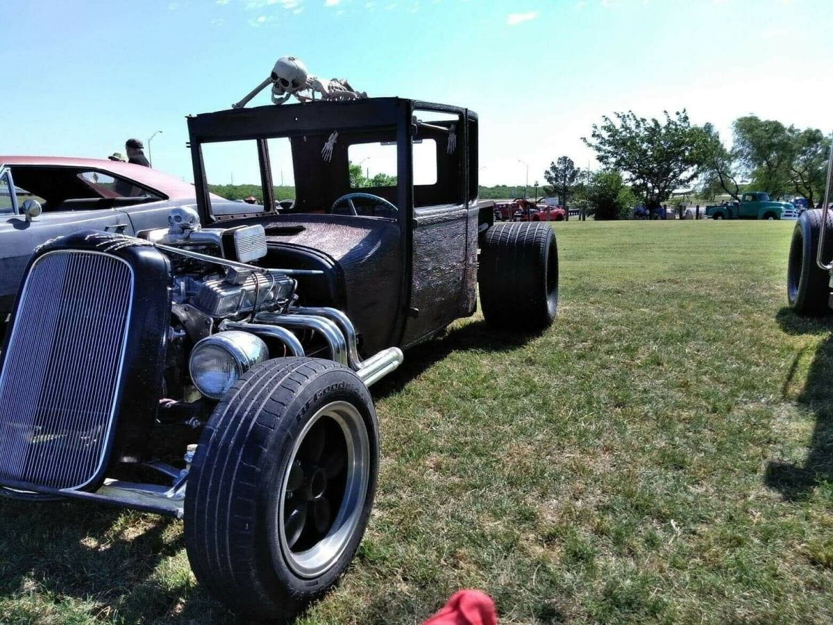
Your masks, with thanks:
[{"label": "black radiator shell with its vertical-bar grille on the hot rod", "polygon": [[92,490],[145,456],[170,298],[167,258],[138,239],[82,231],[37,250],[2,351],[0,483]]}]

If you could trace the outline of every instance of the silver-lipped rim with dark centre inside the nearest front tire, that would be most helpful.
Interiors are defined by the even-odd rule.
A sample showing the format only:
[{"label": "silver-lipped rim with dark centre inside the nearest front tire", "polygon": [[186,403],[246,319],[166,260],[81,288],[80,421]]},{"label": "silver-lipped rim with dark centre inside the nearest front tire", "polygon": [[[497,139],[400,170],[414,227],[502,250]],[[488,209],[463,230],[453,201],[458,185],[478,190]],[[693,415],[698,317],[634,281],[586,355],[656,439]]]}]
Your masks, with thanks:
[{"label": "silver-lipped rim with dark centre inside the nearest front tire", "polygon": [[351,403],[315,413],[292,447],[276,526],[281,554],[300,577],[318,577],[342,556],[362,520],[370,482],[367,426]]}]

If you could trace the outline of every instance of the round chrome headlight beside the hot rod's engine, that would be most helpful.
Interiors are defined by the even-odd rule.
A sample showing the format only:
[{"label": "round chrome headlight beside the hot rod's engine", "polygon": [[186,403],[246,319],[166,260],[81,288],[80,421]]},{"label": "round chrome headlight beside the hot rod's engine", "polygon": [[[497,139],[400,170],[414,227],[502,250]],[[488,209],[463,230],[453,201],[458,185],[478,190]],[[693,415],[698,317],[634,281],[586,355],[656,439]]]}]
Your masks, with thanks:
[{"label": "round chrome headlight beside the hot rod's engine", "polygon": [[229,330],[203,338],[194,346],[188,370],[197,391],[219,399],[257,363],[269,358],[262,338],[254,334]]}]

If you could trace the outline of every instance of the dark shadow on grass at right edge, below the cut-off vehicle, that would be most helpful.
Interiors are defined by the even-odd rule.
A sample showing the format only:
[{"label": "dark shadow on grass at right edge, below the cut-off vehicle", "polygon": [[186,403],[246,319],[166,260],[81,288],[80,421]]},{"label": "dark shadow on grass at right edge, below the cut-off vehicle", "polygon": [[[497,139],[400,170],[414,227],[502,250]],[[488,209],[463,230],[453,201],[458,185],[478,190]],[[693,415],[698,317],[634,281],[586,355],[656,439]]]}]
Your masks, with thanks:
[{"label": "dark shadow on grass at right edge, below the cut-off vehicle", "polygon": [[[788,379],[795,371],[798,358]],[[764,478],[768,487],[792,501],[805,498],[819,482],[833,480],[833,336],[816,349],[798,402],[816,417],[806,462],[804,466],[771,462]]]}]

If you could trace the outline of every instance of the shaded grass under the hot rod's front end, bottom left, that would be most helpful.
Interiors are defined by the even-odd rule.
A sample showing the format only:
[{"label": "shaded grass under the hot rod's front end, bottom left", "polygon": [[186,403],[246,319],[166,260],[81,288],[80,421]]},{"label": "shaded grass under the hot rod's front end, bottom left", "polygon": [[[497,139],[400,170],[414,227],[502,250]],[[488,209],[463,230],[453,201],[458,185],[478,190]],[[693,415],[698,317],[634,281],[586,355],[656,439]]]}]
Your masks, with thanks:
[{"label": "shaded grass under the hot rod's front end, bottom left", "polygon": [[171,575],[163,564],[184,546],[173,523],[87,502],[2,499],[0,598],[20,601],[21,622],[61,622],[62,602],[88,606],[91,620],[233,622],[187,572]]}]

